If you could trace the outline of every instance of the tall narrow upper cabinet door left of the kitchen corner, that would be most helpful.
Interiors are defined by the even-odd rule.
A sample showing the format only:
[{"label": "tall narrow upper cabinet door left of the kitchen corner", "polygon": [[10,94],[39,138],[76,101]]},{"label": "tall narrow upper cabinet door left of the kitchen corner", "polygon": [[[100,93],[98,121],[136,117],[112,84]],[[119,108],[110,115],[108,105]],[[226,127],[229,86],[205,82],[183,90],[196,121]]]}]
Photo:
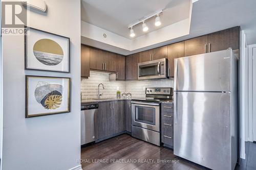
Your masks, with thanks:
[{"label": "tall narrow upper cabinet door left of the kitchen corner", "polygon": [[116,56],[116,79],[125,80],[125,57],[119,54]]}]

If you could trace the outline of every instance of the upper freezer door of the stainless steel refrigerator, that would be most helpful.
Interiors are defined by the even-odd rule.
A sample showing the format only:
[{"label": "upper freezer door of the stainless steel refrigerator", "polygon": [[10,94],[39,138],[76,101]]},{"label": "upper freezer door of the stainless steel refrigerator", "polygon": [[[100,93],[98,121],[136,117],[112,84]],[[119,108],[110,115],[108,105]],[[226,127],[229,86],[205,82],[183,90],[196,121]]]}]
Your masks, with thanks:
[{"label": "upper freezer door of the stainless steel refrigerator", "polygon": [[179,91],[230,91],[232,50],[175,59]]}]

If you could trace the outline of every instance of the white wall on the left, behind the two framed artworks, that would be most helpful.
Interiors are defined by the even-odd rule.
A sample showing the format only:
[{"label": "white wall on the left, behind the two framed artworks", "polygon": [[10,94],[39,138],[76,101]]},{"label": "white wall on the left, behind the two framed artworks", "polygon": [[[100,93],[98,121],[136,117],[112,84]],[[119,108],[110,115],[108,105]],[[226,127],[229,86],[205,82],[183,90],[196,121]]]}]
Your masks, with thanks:
[{"label": "white wall on the left, behind the two framed artworks", "polygon": [[[80,169],[80,0],[45,0],[30,27],[70,37],[71,73],[24,70],[24,36],[3,36],[3,170]],[[25,75],[71,77],[71,112],[25,118]]]}]

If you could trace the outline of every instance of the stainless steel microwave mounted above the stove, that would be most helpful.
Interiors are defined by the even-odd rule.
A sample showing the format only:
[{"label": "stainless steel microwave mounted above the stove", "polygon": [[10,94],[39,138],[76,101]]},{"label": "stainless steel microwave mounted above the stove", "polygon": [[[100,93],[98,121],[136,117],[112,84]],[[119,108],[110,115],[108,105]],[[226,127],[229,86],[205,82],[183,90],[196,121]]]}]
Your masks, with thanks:
[{"label": "stainless steel microwave mounted above the stove", "polygon": [[146,61],[138,64],[138,79],[166,79],[167,76],[167,59]]}]

